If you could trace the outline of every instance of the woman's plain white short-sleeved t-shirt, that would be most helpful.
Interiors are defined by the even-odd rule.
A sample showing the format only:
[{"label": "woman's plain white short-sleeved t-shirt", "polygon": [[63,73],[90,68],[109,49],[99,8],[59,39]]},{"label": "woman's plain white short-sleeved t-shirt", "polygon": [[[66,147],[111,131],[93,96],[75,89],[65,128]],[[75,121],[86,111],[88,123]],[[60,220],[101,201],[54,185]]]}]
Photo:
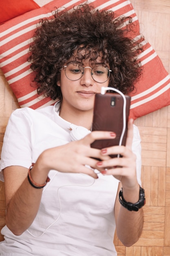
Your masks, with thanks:
[{"label": "woman's plain white short-sleeved t-shirt", "polygon": [[[7,166],[29,168],[45,149],[71,141],[70,123],[58,115],[56,108],[13,112],[4,136],[1,170]],[[132,150],[137,155],[141,184],[141,146],[136,126]],[[29,229],[20,236],[7,226],[2,229],[5,240],[0,243],[0,256],[116,256],[114,205],[119,181],[101,173],[96,180],[82,173],[55,170],[49,172],[49,177],[51,181],[43,189],[38,214]],[[2,171],[0,178],[3,180]]]}]

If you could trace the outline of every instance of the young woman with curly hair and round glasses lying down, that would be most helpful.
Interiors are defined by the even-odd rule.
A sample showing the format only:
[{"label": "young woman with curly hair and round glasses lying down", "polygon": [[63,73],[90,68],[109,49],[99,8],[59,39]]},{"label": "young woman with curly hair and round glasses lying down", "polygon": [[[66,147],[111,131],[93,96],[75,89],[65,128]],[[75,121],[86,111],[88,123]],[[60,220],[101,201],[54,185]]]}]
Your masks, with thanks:
[{"label": "young woman with curly hair and round glasses lying down", "polygon": [[127,37],[127,20],[84,4],[56,11],[38,27],[29,61],[38,93],[56,103],[15,110],[9,119],[1,155],[7,203],[1,256],[115,256],[115,228],[126,246],[139,239],[138,129],[130,120],[126,146],[102,150],[91,143],[116,134],[90,132],[101,87],[127,94],[141,74],[142,38]]}]

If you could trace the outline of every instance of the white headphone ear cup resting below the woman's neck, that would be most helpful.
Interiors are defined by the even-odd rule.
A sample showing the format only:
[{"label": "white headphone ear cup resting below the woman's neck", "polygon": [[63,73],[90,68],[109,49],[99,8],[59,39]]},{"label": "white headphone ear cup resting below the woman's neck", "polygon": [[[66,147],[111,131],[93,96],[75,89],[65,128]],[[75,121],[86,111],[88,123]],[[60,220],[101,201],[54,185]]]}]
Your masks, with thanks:
[{"label": "white headphone ear cup resting below the woman's neck", "polygon": [[76,126],[74,124],[70,125],[70,129],[71,141],[82,139],[91,132],[90,130],[86,129],[83,126]]}]

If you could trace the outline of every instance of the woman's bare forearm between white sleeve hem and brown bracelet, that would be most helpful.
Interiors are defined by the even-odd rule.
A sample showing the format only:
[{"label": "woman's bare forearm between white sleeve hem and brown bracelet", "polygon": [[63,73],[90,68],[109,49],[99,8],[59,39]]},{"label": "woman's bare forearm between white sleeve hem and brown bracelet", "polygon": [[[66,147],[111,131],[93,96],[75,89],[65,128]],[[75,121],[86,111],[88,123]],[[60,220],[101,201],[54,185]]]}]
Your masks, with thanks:
[{"label": "woman's bare forearm between white sleeve hem and brown bracelet", "polygon": [[[29,184],[28,169],[22,166],[9,166],[3,170],[3,174],[7,207],[6,225],[13,234],[19,236],[29,228],[38,212],[42,189],[35,189]],[[43,173],[40,177],[42,176]]]}]

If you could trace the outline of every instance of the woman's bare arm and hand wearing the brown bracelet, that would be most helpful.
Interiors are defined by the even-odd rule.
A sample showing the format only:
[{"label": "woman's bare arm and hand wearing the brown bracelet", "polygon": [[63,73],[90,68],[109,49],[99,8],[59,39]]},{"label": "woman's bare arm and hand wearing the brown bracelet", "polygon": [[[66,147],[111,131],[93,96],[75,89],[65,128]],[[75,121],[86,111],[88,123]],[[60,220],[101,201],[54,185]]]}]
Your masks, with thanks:
[{"label": "woman's bare arm and hand wearing the brown bracelet", "polygon": [[[109,159],[100,150],[91,148],[95,139],[113,138],[111,132],[91,132],[84,139],[44,150],[31,170],[31,178],[44,184],[50,170],[65,173],[85,173],[93,178],[97,174],[85,165],[96,168],[96,158]],[[100,169],[100,168],[98,168]],[[6,224],[15,235],[21,235],[32,224],[42,197],[43,189],[35,189],[27,179],[28,169],[22,166],[4,168],[7,205]]]}]

